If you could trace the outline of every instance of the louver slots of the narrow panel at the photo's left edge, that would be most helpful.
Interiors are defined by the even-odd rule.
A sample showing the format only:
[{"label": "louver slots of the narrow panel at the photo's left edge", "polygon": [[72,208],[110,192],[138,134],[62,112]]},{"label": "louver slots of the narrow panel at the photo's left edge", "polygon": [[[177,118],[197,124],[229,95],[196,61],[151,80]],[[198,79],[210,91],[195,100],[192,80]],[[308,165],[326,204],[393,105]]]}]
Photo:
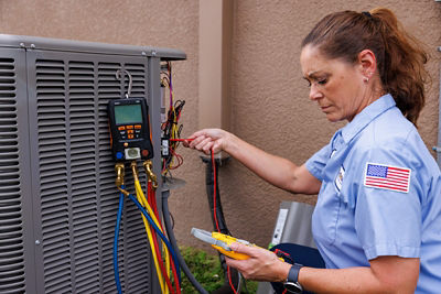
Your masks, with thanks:
[{"label": "louver slots of the narrow panel at the photo's left edge", "polygon": [[24,293],[15,61],[0,57],[0,293]]}]

